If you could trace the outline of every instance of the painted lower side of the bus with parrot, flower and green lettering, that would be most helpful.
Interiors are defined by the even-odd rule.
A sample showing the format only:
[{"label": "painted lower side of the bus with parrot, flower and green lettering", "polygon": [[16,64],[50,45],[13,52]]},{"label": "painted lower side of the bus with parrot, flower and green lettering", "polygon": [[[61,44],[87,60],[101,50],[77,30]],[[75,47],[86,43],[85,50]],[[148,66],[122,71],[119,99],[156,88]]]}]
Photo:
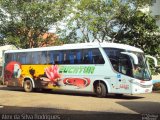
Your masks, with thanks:
[{"label": "painted lower side of the bus with parrot, flower and green lettering", "polygon": [[27,77],[34,80],[35,88],[93,92],[94,80],[110,77],[107,80],[110,83],[107,86],[110,88],[108,92],[129,93],[129,87],[126,89],[126,83],[123,83],[124,78],[119,81],[116,76],[108,62],[103,65],[21,65],[11,61],[4,69],[5,83],[8,86],[22,87],[24,78]]}]

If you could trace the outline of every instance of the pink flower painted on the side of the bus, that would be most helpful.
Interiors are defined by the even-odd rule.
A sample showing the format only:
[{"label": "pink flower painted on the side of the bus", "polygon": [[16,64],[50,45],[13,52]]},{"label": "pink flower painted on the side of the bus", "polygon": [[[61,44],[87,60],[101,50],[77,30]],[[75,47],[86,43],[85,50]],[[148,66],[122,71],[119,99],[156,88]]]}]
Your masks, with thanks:
[{"label": "pink flower painted on the side of the bus", "polygon": [[47,77],[53,83],[56,83],[58,78],[60,78],[60,74],[58,73],[58,70],[59,69],[58,69],[57,65],[52,65],[48,68],[45,68],[45,72],[46,72]]}]

